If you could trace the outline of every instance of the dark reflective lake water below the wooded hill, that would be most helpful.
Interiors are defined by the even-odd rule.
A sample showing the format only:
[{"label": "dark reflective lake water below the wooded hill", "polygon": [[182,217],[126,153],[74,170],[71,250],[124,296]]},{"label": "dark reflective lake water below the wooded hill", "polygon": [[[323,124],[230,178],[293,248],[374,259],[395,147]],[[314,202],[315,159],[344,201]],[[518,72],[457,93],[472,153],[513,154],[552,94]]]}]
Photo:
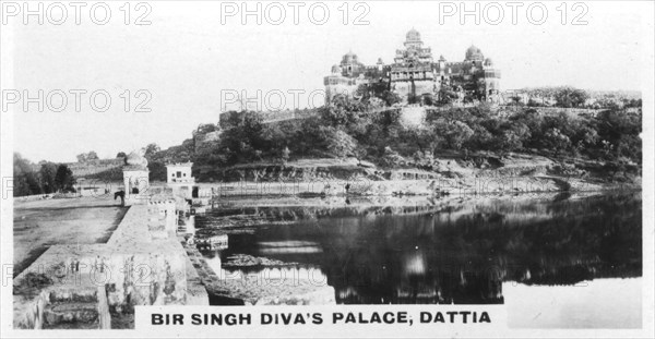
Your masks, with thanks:
[{"label": "dark reflective lake water below the wooded hill", "polygon": [[[639,193],[355,205],[217,208],[195,223],[251,217],[203,252],[214,270],[326,283],[340,304],[505,304],[512,327],[641,326]],[[227,267],[236,254],[291,264]]]}]

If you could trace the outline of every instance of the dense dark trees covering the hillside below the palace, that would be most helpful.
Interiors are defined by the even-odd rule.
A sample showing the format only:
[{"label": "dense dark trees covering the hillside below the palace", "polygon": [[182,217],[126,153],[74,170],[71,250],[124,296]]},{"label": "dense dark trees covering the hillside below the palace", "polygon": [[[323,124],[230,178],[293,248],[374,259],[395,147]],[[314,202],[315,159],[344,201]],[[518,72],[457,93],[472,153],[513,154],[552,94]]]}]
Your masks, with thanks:
[{"label": "dense dark trees covering the hillside below the palace", "polygon": [[[433,98],[428,101],[436,106],[420,104],[426,110],[425,123],[412,126],[402,123],[402,108],[394,106],[397,100],[388,100],[388,92],[369,89],[361,88],[357,99],[337,96],[330,106],[281,116],[295,119],[271,121],[266,113],[246,110],[222,113],[219,125],[201,124],[181,145],[167,149],[147,145],[151,180],[165,181],[165,164],[179,161],[193,161],[198,170],[253,161],[284,165],[300,158],[356,157],[383,168],[412,164],[430,170],[442,152],[466,157],[480,150],[500,156],[517,152],[576,157],[597,161],[612,173],[639,172],[641,168],[639,93],[565,86],[525,89],[531,97],[552,98],[548,106],[556,111],[548,113],[534,100],[493,108],[487,104],[437,105],[442,100]],[[595,102],[594,111],[570,111],[588,108],[590,99]],[[218,131],[219,137],[204,137]],[[116,179],[119,174],[104,171],[94,177]]]}]

